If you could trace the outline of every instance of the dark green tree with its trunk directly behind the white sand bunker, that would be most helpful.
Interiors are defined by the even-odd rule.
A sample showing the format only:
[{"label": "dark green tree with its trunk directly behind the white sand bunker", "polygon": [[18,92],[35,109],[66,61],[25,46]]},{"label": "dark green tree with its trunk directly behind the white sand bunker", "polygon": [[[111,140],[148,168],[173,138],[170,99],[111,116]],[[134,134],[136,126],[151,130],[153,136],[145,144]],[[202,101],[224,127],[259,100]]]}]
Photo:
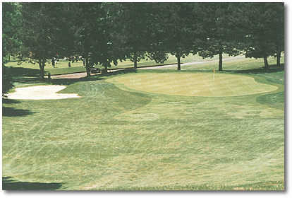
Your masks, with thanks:
[{"label": "dark green tree with its trunk directly behind the white sand bunker", "polygon": [[25,56],[39,64],[39,77],[44,79],[47,59],[66,52],[66,5],[61,3],[22,3],[23,45]]}]

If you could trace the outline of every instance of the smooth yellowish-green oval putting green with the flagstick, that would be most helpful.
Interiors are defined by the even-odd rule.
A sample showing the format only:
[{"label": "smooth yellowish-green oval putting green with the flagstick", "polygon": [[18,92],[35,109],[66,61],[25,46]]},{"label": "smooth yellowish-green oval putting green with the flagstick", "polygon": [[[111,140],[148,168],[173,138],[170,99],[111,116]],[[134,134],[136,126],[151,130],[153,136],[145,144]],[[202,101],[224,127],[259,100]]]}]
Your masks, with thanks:
[{"label": "smooth yellowish-green oval putting green with the flagstick", "polygon": [[224,97],[275,91],[276,86],[232,74],[133,74],[107,81],[138,91],[168,95]]}]

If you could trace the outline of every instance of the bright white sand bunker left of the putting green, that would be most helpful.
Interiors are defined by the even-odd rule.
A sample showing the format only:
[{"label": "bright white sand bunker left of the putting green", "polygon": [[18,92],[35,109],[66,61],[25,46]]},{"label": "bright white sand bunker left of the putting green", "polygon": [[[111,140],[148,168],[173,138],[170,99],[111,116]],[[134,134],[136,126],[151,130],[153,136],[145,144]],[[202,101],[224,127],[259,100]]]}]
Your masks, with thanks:
[{"label": "bright white sand bunker left of the putting green", "polygon": [[51,100],[64,98],[80,98],[76,93],[56,93],[66,88],[66,86],[30,86],[16,88],[16,91],[9,93],[9,99],[23,100]]}]

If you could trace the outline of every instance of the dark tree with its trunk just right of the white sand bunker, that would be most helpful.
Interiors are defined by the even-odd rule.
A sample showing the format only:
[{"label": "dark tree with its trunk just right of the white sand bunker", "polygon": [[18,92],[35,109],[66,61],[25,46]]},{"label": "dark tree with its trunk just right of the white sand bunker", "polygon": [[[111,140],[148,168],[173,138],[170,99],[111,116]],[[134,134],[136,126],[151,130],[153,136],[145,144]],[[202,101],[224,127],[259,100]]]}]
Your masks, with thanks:
[{"label": "dark tree with its trunk just right of the white sand bunker", "polygon": [[77,3],[75,9],[75,49],[83,54],[87,77],[90,77],[90,67],[94,64],[104,66],[102,72],[107,72],[111,64],[118,64],[118,59],[125,59],[121,50],[123,37],[118,33],[120,5],[114,3]]}]

